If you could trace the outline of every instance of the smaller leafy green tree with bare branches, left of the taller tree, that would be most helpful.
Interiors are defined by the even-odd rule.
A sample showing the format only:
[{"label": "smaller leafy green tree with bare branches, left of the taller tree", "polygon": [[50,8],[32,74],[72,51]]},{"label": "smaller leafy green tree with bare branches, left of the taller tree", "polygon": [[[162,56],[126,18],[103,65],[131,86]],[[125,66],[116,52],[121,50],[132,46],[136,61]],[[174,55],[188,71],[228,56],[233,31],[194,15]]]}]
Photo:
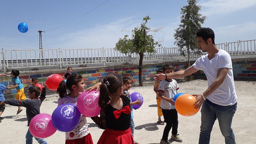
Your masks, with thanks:
[{"label": "smaller leafy green tree with bare branches, left of the taller tree", "polygon": [[149,32],[158,32],[162,28],[150,29],[146,27],[146,24],[150,20],[149,16],[144,17],[143,21],[139,27],[135,27],[132,30],[132,39],[125,35],[124,38],[119,38],[116,43],[115,50],[118,50],[125,55],[131,56],[132,53],[139,54],[139,84],[143,86],[142,83],[142,60],[145,53],[153,54],[156,53],[155,46],[160,46],[159,42],[153,39],[153,35],[149,35]]}]

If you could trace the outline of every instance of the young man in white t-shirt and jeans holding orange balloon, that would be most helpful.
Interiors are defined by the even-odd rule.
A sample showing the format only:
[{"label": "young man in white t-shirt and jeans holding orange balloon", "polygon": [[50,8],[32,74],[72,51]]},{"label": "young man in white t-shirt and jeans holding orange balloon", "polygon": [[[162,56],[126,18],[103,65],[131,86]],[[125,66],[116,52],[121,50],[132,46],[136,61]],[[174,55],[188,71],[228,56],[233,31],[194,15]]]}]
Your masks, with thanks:
[{"label": "young man in white t-shirt and jeans holding orange balloon", "polygon": [[196,96],[195,108],[201,108],[201,129],[199,144],[209,144],[213,124],[218,118],[220,131],[225,143],[235,144],[235,135],[231,128],[236,112],[237,96],[234,85],[232,62],[228,52],[220,50],[214,43],[211,28],[200,28],[196,32],[197,46],[208,54],[197,59],[189,68],[167,75],[155,75],[154,79],[180,78],[203,70],[208,81],[208,88]]}]

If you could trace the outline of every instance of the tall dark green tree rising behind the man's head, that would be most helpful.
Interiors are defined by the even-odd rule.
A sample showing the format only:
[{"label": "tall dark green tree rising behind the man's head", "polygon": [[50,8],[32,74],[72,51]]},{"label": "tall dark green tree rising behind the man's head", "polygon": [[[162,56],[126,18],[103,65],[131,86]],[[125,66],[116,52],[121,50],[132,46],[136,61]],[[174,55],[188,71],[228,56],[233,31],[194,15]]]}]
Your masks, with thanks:
[{"label": "tall dark green tree rising behind the man's head", "polygon": [[197,5],[196,0],[188,0],[188,5],[181,8],[181,17],[179,28],[175,29],[174,44],[178,46],[180,54],[188,54],[188,66],[190,66],[189,55],[191,52],[201,54],[197,48],[196,31],[204,24],[206,16],[199,13],[201,6]]}]

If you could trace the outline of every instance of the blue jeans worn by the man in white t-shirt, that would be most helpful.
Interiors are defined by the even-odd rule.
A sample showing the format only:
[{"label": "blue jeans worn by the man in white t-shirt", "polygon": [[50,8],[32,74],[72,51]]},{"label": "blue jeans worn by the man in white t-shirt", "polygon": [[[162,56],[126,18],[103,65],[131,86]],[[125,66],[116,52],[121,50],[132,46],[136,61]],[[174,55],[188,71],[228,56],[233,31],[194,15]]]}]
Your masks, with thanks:
[{"label": "blue jeans worn by the man in white t-shirt", "polygon": [[209,144],[213,124],[218,118],[221,134],[225,137],[226,144],[235,144],[235,135],[231,128],[232,119],[236,112],[235,103],[232,106],[220,106],[205,100],[201,108],[201,127],[199,144]]}]

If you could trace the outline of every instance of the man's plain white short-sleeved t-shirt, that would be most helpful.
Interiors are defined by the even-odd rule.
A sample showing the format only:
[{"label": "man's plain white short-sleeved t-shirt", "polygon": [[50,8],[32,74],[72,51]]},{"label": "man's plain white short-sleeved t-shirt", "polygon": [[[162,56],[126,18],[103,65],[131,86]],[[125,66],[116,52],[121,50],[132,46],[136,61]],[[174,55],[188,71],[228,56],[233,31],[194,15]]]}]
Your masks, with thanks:
[{"label": "man's plain white short-sleeved t-shirt", "polygon": [[206,54],[197,59],[192,66],[204,71],[204,74],[207,77],[208,87],[216,80],[219,68],[228,68],[228,74],[224,79],[224,82],[206,99],[221,106],[234,105],[236,103],[237,96],[232,61],[228,52],[219,50],[212,60],[209,60],[208,54]]}]

